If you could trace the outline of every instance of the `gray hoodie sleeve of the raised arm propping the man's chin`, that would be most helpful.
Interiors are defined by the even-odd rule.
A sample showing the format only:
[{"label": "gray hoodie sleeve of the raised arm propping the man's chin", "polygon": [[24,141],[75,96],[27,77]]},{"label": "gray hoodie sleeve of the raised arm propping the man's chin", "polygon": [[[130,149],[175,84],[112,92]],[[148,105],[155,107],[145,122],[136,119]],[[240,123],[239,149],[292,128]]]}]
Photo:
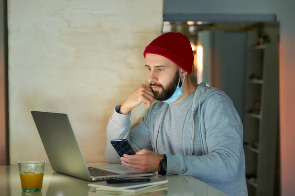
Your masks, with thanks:
[{"label": "gray hoodie sleeve of the raised arm propping the man's chin", "polygon": [[108,163],[120,162],[120,157],[118,153],[110,143],[111,140],[126,139],[129,141],[130,145],[135,151],[139,151],[141,149],[152,149],[148,127],[149,110],[145,117],[140,120],[140,123],[130,130],[131,111],[129,114],[124,115],[118,113],[119,109],[120,105],[117,105],[107,125],[107,144],[105,147],[105,158]]}]

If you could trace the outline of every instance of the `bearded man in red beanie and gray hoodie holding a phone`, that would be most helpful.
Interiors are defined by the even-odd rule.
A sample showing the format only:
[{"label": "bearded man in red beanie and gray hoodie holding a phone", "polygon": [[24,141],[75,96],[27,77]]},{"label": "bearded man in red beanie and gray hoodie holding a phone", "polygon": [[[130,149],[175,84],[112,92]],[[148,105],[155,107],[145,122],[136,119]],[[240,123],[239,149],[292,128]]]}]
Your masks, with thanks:
[{"label": "bearded man in red beanie and gray hoodie holding a phone", "polygon": [[[165,33],[144,56],[150,85],[141,85],[115,107],[106,160],[139,172],[191,175],[228,195],[246,196],[242,123],[224,92],[190,81],[194,56],[188,38]],[[131,110],[141,103],[148,112],[130,131]],[[127,139],[137,154],[119,160],[112,139]]]}]

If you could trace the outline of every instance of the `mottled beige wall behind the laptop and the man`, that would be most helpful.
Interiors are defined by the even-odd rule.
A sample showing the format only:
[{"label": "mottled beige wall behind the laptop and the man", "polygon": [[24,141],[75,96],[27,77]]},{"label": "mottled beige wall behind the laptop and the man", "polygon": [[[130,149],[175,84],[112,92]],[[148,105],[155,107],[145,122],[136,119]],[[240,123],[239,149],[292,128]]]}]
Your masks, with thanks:
[{"label": "mottled beige wall behind the laptop and the man", "polygon": [[104,161],[115,105],[147,83],[142,52],[161,34],[162,3],[8,0],[12,165],[48,161],[31,110],[67,113],[86,161]]}]

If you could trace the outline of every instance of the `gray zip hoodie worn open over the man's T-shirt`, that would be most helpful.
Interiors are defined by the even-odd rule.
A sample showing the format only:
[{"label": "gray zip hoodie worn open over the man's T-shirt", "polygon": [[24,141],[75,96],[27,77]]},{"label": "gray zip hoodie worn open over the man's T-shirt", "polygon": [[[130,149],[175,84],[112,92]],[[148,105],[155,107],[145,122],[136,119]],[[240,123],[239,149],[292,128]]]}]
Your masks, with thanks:
[{"label": "gray zip hoodie worn open over the man's T-shirt", "polygon": [[[167,107],[161,101],[153,104],[130,131],[131,112],[119,114],[117,105],[107,126],[106,160],[120,162],[110,145],[112,139],[127,139],[136,151],[157,152],[155,141]],[[243,126],[232,100],[224,92],[201,83],[189,112],[191,118],[184,123],[183,154],[166,154],[167,174],[191,175],[230,196],[247,196]],[[200,134],[201,156],[193,150],[195,134]]]}]

